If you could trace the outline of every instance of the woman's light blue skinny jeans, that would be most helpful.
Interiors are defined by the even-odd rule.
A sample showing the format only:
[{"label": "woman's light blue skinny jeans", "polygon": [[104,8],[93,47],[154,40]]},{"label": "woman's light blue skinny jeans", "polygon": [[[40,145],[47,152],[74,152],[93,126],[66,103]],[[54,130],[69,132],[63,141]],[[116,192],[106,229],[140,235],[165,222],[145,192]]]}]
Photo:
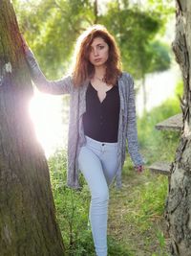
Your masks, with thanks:
[{"label": "woman's light blue skinny jeans", "polygon": [[78,164],[90,192],[89,219],[97,256],[107,256],[109,185],[117,175],[117,143],[104,143],[86,136]]}]

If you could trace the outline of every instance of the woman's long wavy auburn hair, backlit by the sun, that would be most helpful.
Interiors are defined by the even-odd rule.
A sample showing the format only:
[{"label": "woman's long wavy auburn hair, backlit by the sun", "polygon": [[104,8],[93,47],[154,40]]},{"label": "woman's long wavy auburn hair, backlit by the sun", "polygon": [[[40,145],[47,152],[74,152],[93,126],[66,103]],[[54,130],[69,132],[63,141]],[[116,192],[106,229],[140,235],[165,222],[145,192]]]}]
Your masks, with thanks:
[{"label": "woman's long wavy auburn hair, backlit by the sun", "polygon": [[75,86],[80,86],[84,81],[94,77],[95,67],[90,62],[91,45],[96,37],[101,37],[109,46],[109,57],[106,62],[106,74],[104,81],[115,85],[118,76],[121,75],[120,53],[115,38],[109,34],[102,25],[94,25],[78,37],[75,55],[73,81]]}]

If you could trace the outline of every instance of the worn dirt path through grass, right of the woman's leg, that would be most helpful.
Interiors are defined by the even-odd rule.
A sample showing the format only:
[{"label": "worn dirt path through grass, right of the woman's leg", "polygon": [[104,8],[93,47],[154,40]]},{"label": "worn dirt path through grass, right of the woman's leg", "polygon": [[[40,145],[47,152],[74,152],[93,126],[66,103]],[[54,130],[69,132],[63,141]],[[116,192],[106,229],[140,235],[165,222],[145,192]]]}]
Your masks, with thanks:
[{"label": "worn dirt path through grass, right of the woman's leg", "polygon": [[[148,181],[147,175],[138,175],[132,172],[131,175],[123,175],[123,185],[119,192],[116,188],[111,189],[109,206],[109,235],[117,241],[127,244],[135,256],[166,256],[168,239],[165,239],[164,247],[159,246],[158,230],[165,230],[163,216],[155,216],[151,221],[148,230],[141,231],[136,222],[128,218],[136,211],[132,208],[131,201],[134,200],[135,191],[143,182]],[[166,236],[167,237],[167,236]],[[154,254],[156,253],[156,254]],[[119,255],[117,255],[119,256]],[[121,255],[121,256],[128,256]]]}]

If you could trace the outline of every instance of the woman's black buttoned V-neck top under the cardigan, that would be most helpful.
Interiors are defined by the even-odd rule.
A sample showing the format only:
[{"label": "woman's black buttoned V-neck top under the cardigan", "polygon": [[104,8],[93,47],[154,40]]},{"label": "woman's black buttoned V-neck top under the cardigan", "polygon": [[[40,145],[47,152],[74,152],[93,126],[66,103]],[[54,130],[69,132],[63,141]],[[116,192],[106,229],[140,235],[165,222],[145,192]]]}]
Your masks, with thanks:
[{"label": "woman's black buttoned V-neck top under the cardigan", "polygon": [[97,91],[90,83],[86,92],[86,112],[83,114],[85,135],[100,142],[117,142],[119,106],[118,85],[108,90],[100,103]]}]

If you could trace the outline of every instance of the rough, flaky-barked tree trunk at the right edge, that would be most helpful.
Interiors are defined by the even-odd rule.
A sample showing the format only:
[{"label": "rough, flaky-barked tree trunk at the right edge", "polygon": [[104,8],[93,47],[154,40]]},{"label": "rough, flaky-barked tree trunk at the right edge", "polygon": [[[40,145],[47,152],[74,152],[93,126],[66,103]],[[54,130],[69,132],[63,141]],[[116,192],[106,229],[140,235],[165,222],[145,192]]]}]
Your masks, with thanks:
[{"label": "rough, flaky-barked tree trunk at the right edge", "polygon": [[191,256],[191,1],[176,2],[176,38],[173,42],[184,83],[181,101],[183,128],[171,169],[166,205],[172,255]]}]

